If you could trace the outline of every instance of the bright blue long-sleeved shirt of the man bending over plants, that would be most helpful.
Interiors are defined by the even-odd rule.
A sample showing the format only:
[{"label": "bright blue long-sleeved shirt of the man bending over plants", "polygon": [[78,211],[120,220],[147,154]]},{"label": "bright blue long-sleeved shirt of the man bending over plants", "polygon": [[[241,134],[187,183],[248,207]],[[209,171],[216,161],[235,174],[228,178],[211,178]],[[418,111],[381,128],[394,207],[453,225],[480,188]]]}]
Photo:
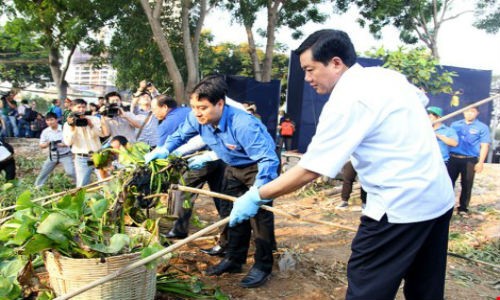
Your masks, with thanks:
[{"label": "bright blue long-sleeved shirt of the man bending over plants", "polygon": [[262,122],[248,113],[224,105],[216,127],[199,124],[194,114],[190,113],[184,124],[167,138],[164,146],[172,152],[197,134],[230,166],[246,167],[257,163],[255,186],[276,178],[279,160],[274,141]]}]

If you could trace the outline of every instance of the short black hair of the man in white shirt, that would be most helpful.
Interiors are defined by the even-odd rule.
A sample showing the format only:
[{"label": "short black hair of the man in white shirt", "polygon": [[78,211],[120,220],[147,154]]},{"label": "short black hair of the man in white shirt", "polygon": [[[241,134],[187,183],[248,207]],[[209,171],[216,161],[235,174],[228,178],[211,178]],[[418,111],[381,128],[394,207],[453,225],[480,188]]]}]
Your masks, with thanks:
[{"label": "short black hair of the man in white shirt", "polygon": [[348,67],[356,63],[354,45],[349,35],[341,30],[318,30],[308,36],[294,52],[300,56],[308,49],[311,49],[313,59],[324,65],[327,65],[335,56],[342,59]]}]

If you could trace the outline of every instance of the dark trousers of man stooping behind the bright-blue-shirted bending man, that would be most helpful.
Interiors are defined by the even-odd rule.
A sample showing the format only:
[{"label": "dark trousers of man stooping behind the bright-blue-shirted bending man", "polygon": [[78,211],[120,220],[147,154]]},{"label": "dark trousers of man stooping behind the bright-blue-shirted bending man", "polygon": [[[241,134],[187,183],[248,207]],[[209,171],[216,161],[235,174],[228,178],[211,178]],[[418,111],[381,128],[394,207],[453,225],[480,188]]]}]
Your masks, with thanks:
[{"label": "dark trousers of man stooping behind the bright-blue-shirted bending man", "polygon": [[[212,192],[220,193],[222,191],[222,181],[226,164],[222,160],[208,162],[199,170],[190,170],[183,176],[184,184],[189,187],[202,188],[208,183]],[[174,191],[173,197],[175,201],[174,214],[178,217],[174,222],[173,232],[177,235],[187,235],[189,233],[189,220],[193,214],[193,205],[198,197],[197,194]],[[189,202],[189,208],[186,208],[184,202]],[[215,208],[221,218],[229,216],[233,203],[226,200],[214,198]],[[227,245],[227,227],[225,226],[219,238],[219,245],[225,247]]]}]

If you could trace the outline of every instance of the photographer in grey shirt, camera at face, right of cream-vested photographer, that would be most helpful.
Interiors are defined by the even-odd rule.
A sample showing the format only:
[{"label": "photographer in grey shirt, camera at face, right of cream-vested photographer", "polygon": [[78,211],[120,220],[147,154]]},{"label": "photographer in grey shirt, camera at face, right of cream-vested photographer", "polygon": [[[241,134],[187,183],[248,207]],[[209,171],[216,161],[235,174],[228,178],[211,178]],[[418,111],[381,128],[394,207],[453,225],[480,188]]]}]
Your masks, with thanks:
[{"label": "photographer in grey shirt, camera at face, right of cream-vested photographer", "polygon": [[129,118],[125,117],[122,108],[122,98],[117,92],[107,93],[106,105],[99,109],[102,116],[102,123],[109,128],[111,136],[122,135],[131,143],[135,142],[135,127]]}]

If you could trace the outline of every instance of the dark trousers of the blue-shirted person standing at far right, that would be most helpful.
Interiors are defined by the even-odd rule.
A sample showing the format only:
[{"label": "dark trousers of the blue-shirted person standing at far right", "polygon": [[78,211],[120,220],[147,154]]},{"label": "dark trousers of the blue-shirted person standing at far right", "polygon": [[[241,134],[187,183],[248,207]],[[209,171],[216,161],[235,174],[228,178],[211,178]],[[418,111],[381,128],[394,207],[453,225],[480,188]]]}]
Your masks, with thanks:
[{"label": "dark trousers of the blue-shirted person standing at far right", "polygon": [[476,174],[474,167],[477,162],[477,157],[459,158],[450,155],[450,160],[448,160],[448,164],[446,165],[453,187],[455,187],[455,182],[458,179],[458,175],[460,175],[462,191],[460,192],[460,206],[458,207],[458,211],[468,211],[472,186],[474,184],[474,175]]}]

